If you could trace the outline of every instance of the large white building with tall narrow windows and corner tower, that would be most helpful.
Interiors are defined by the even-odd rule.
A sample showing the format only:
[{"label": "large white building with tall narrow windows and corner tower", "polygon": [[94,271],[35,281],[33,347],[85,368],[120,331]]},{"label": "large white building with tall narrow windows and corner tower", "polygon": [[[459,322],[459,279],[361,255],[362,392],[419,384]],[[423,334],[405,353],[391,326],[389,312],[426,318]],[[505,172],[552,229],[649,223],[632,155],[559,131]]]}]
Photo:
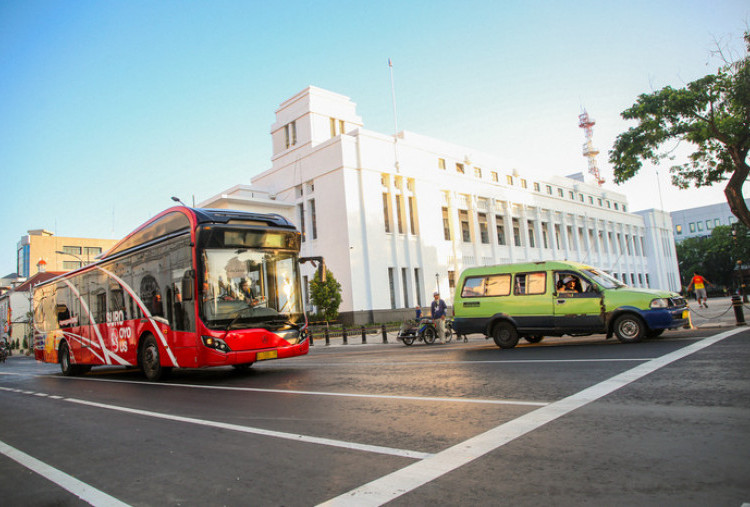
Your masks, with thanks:
[{"label": "large white building with tall narrow windows and corner tower", "polygon": [[302,255],[323,256],[341,283],[345,321],[400,318],[436,288],[450,305],[462,269],[506,262],[582,261],[636,287],[680,288],[674,247],[661,248],[669,215],[629,213],[623,194],[580,176],[542,180],[464,146],[366,130],[354,102],[315,87],[281,104],[271,138],[272,167],[252,187],[200,205],[283,203]]}]

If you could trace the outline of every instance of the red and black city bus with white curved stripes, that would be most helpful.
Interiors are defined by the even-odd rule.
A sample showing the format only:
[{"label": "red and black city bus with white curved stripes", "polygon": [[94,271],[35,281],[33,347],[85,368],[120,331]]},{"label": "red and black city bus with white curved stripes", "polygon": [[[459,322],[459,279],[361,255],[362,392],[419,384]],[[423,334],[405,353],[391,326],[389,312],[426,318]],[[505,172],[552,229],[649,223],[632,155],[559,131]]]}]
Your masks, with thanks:
[{"label": "red and black city bus with white curved stripes", "polygon": [[274,214],[170,208],[94,264],[34,289],[34,356],[99,365],[231,365],[306,354],[300,233]]}]

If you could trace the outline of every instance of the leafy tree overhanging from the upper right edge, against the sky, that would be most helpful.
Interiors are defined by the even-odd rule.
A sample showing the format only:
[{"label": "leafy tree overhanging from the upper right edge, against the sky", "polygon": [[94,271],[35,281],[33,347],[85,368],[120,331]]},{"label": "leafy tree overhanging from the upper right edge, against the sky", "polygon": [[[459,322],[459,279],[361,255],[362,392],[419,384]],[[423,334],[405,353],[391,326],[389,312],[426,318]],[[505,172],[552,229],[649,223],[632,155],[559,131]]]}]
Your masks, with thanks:
[{"label": "leafy tree overhanging from the upper right edge, against the sky", "polygon": [[670,169],[672,184],[688,188],[729,182],[724,195],[732,213],[750,227],[750,211],[742,185],[750,174],[750,31],[744,34],[746,55],[728,62],[716,74],[688,83],[642,94],[621,113],[639,124],[620,134],[609,152],[616,183],[635,176],[643,161],[654,164],[669,153],[660,151],[670,141],[693,145],[689,162]]}]

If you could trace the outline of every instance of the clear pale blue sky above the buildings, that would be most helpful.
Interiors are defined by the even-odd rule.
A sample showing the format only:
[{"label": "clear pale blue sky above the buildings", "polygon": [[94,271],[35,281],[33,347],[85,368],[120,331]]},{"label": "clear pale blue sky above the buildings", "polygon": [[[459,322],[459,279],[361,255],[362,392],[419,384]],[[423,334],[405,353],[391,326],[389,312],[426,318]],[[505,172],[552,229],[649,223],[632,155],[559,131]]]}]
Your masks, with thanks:
[{"label": "clear pale blue sky above the buildings", "polygon": [[[653,167],[611,183],[620,113],[714,72],[716,40],[741,55],[749,25],[747,0],[0,0],[0,276],[28,229],[118,239],[173,195],[249,184],[309,85],[393,133],[388,58],[399,129],[543,178],[586,170],[585,107],[605,187],[661,207]],[[724,200],[659,178],[667,211]]]}]

